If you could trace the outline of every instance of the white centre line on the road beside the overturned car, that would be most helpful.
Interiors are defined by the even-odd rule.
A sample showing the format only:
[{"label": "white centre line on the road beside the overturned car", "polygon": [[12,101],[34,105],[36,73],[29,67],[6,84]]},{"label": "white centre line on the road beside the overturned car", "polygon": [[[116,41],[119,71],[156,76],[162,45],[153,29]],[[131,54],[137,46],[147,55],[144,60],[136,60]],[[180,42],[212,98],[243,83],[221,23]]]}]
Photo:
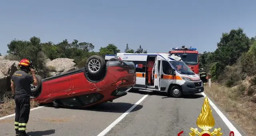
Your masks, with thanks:
[{"label": "white centre line on the road beside the overturned car", "polygon": [[128,115],[138,104],[140,104],[148,95],[144,95],[139,101],[137,101],[130,109],[128,109],[125,113],[123,113],[119,118],[117,118],[114,122],[112,122],[107,128],[105,128],[100,134],[97,136],[106,135],[118,122],[120,122],[126,115]]}]

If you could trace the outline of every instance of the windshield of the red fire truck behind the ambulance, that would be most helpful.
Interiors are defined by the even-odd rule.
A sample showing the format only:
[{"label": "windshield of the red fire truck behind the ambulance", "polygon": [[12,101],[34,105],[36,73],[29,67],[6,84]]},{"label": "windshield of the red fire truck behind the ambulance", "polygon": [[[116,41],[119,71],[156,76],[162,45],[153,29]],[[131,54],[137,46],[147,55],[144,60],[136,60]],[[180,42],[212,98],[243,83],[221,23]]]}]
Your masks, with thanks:
[{"label": "windshield of the red fire truck behind the ambulance", "polygon": [[198,64],[198,55],[196,53],[172,53],[179,57],[181,57],[182,61],[184,61],[187,65]]}]

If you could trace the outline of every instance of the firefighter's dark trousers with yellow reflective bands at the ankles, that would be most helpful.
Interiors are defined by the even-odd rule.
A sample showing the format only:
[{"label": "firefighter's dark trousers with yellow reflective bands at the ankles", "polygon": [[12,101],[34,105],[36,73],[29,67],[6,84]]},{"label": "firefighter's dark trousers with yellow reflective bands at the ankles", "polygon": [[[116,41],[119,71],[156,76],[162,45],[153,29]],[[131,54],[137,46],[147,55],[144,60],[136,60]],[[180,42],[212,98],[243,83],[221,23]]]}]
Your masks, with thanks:
[{"label": "firefighter's dark trousers with yellow reflective bands at the ankles", "polygon": [[30,97],[25,95],[14,96],[15,108],[15,130],[16,134],[25,133],[30,113]]}]

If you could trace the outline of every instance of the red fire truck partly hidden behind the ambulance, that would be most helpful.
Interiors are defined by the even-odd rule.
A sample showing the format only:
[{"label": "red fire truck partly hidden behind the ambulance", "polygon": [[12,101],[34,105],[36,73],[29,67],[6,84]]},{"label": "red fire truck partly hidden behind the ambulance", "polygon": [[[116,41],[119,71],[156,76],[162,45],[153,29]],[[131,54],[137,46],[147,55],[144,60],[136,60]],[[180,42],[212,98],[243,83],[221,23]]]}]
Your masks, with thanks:
[{"label": "red fire truck partly hidden behind the ambulance", "polygon": [[177,47],[172,48],[168,53],[180,56],[195,74],[199,74],[199,59],[196,48],[186,48],[184,46],[183,48]]}]

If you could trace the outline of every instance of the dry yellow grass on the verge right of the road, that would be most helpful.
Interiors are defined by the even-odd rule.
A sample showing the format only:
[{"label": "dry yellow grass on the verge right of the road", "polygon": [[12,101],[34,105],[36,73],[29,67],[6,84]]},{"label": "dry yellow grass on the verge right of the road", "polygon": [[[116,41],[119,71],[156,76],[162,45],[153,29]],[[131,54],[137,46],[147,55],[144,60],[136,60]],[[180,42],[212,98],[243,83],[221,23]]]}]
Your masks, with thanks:
[{"label": "dry yellow grass on the verge right of the road", "polygon": [[243,87],[228,88],[217,84],[205,85],[205,93],[228,114],[228,118],[241,128],[248,136],[256,136],[256,103],[250,97],[242,95]]}]

